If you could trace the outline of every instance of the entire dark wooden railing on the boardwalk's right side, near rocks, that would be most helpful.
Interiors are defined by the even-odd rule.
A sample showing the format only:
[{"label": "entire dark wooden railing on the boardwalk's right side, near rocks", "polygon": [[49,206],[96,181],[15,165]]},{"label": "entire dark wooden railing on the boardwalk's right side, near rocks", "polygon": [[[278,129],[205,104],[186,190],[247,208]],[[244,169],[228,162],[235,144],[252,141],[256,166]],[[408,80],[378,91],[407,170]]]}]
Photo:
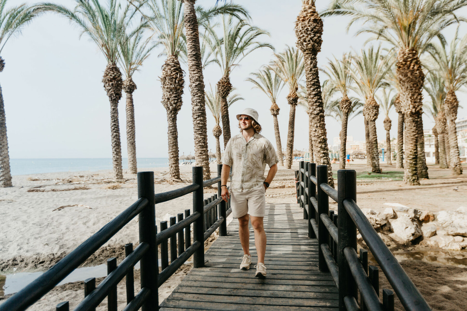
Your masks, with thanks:
[{"label": "entire dark wooden railing on the boardwalk's right side, near rocks", "polygon": [[[357,255],[357,229],[407,311],[428,311],[424,297],[386,247],[357,206],[356,172],[337,172],[338,190],[328,185],[326,165],[299,162],[295,171],[297,200],[308,219],[308,237],[318,239],[320,271],[329,271],[339,290],[340,311],[393,311],[394,293],[382,290],[379,298],[378,268],[368,266],[368,251]],[[337,214],[329,210],[337,202]],[[357,290],[361,301],[357,303]]]}]

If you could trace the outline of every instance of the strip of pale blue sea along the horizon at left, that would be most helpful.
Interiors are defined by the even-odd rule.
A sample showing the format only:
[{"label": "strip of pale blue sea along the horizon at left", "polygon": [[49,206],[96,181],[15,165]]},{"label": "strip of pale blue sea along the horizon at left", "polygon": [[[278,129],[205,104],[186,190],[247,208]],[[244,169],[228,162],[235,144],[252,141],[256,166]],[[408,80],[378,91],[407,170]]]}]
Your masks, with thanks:
[{"label": "strip of pale blue sea along the horizon at left", "polygon": [[[169,166],[169,158],[137,159],[138,168]],[[180,161],[183,163],[183,161]],[[128,159],[122,159],[123,170]],[[10,159],[12,175],[111,170],[112,159]],[[124,171],[125,172],[125,171]]]}]

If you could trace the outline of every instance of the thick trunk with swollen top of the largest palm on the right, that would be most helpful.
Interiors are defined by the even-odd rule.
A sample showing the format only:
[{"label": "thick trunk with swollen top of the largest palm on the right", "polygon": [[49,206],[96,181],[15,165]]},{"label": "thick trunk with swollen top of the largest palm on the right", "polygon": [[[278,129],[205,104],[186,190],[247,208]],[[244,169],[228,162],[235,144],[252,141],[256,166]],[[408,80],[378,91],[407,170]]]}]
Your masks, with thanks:
[{"label": "thick trunk with swollen top of the largest palm on the right", "polygon": [[404,113],[407,138],[405,140],[405,182],[410,185],[420,185],[417,173],[417,124],[423,106],[422,87],[425,74],[417,50],[413,48],[399,49],[396,75],[401,87],[401,111]]}]

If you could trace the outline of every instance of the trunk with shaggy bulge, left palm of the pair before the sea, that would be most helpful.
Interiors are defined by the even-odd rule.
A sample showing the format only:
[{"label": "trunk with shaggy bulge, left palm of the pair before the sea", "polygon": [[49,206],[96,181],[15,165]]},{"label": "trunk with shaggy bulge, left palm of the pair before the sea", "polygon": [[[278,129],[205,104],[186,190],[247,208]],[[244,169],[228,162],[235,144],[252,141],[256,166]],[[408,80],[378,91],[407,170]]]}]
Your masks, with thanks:
[{"label": "trunk with shaggy bulge, left palm of the pair before the sea", "polygon": [[121,98],[123,80],[121,72],[117,65],[107,64],[102,78],[104,89],[107,92],[110,102],[110,133],[112,137],[112,164],[113,174],[116,179],[123,179],[123,170],[121,167],[121,143],[120,143],[120,125],[118,121],[118,102]]}]

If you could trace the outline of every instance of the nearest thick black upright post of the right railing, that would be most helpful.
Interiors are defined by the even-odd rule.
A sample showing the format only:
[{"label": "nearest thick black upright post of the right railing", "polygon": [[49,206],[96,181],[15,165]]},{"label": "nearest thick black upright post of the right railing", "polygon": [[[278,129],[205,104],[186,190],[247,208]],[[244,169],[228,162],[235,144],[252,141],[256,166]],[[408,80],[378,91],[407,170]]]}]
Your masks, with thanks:
[{"label": "nearest thick black upright post of the right railing", "polygon": [[339,228],[339,246],[337,264],[339,266],[339,311],[345,311],[344,297],[352,295],[357,299],[357,285],[350,271],[344,249],[348,246],[357,251],[357,228],[354,221],[347,213],[344,204],[345,199],[357,201],[357,175],[354,170],[337,171],[337,223]]}]

